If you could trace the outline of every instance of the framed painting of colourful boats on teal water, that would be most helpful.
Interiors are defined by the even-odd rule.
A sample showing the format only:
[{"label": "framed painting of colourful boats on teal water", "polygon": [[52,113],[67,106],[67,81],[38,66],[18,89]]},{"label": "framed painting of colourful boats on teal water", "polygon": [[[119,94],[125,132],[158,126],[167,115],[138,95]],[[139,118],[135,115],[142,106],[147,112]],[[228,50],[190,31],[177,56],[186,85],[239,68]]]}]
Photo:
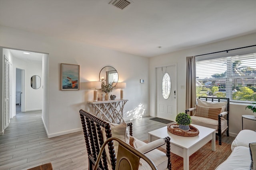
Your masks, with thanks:
[{"label": "framed painting of colourful boats on teal water", "polygon": [[61,63],[61,90],[79,90],[80,66]]}]

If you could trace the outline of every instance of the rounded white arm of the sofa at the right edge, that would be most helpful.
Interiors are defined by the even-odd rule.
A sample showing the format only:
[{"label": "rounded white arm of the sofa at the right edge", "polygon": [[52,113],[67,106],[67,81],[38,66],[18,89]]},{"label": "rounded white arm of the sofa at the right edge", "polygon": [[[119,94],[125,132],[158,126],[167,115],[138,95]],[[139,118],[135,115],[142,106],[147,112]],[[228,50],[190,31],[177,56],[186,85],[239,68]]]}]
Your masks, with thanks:
[{"label": "rounded white arm of the sofa at the right edge", "polygon": [[231,150],[238,146],[249,147],[249,143],[256,142],[256,132],[244,129],[238,133],[236,138],[231,144]]}]

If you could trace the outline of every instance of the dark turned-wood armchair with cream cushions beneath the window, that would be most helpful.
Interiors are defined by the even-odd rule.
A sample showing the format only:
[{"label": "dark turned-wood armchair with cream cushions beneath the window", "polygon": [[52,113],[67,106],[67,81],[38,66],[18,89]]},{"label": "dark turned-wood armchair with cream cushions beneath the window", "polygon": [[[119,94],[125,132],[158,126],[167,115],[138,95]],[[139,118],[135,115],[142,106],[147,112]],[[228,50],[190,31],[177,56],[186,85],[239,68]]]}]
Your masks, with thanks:
[{"label": "dark turned-wood armchair with cream cushions beneath the window", "polygon": [[[202,119],[200,119],[200,118],[195,119],[196,117],[194,115],[191,116],[192,124],[201,125],[201,126],[210,127],[210,128],[215,128],[216,129],[216,135],[218,136],[219,145],[221,145],[221,143],[222,143],[222,141],[221,141],[222,134],[224,132],[226,132],[227,136],[229,136],[229,132],[228,132],[228,130],[229,130],[229,98],[216,98],[216,97],[198,97],[198,98],[199,99],[204,98],[205,101],[209,100],[211,102],[222,102],[222,101],[226,102],[225,111],[218,115],[218,121],[216,121],[217,122],[216,127],[214,127],[213,124],[204,122],[204,120],[206,119],[205,117],[203,117]],[[211,103],[211,102],[209,102],[209,103]],[[189,108],[189,109],[186,109],[186,113],[188,114],[190,111],[195,111],[195,110],[196,110],[196,107]]]}]

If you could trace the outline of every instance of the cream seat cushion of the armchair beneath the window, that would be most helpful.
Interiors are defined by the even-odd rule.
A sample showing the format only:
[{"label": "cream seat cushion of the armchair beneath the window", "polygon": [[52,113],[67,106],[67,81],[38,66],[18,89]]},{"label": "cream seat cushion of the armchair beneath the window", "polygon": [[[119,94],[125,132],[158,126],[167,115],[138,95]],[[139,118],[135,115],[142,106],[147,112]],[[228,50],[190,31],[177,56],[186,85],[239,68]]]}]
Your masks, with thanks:
[{"label": "cream seat cushion of the armchair beneath the window", "polygon": [[[212,129],[218,130],[218,120],[215,119],[209,119],[206,117],[200,117],[200,116],[190,116],[191,117],[191,123],[195,125],[200,125],[204,127],[209,127]],[[224,131],[228,127],[228,121],[226,119],[221,119],[221,129]]]}]

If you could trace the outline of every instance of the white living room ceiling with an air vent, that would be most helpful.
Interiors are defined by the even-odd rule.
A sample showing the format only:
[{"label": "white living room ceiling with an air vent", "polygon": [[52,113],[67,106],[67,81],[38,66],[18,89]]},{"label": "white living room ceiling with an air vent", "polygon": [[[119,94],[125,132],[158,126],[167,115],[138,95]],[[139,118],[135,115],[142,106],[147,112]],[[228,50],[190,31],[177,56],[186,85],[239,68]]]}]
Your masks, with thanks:
[{"label": "white living room ceiling with an air vent", "polygon": [[145,57],[256,32],[256,0],[108,2],[0,0],[0,24]]}]

